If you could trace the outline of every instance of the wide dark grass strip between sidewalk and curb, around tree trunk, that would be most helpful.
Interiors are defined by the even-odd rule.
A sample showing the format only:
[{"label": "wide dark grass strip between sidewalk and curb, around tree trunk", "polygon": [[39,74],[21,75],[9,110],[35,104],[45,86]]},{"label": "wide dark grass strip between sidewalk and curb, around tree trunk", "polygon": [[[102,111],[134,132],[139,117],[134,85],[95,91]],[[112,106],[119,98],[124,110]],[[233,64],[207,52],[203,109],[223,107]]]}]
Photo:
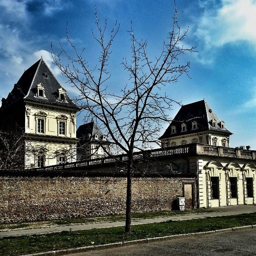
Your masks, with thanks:
[{"label": "wide dark grass strip between sidewalk and curb, around tree trunk", "polygon": [[115,227],[46,235],[1,238],[0,255],[22,255],[42,251],[90,246],[92,243],[98,245],[254,224],[256,224],[256,213],[249,213],[215,218],[133,225],[131,234],[125,234],[124,227]]}]

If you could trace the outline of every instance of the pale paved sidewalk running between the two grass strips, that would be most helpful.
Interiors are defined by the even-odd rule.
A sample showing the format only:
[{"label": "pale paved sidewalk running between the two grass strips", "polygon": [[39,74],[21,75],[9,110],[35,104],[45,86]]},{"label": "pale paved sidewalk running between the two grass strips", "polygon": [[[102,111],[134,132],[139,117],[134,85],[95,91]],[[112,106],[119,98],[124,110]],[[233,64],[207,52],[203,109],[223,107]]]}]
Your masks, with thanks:
[{"label": "pale paved sidewalk running between the two grass strips", "polygon": [[[216,207],[216,208],[212,207],[210,210],[218,210],[219,212],[207,212],[202,214],[172,216],[172,217],[143,219],[143,220],[132,220],[131,224],[139,225],[139,224],[146,224],[146,223],[164,222],[167,220],[191,220],[191,219],[199,219],[199,218],[207,218],[207,217],[238,215],[243,213],[256,212],[256,205],[236,205],[236,206],[225,206],[225,207]],[[36,234],[58,233],[62,231],[87,230],[87,229],[93,229],[93,228],[110,228],[110,227],[117,227],[117,226],[124,226],[124,225],[125,225],[124,221],[117,221],[117,222],[65,225],[65,226],[57,226],[57,227],[49,227],[49,228],[33,228],[33,229],[0,231],[0,238],[9,237],[9,236],[31,236]]]}]

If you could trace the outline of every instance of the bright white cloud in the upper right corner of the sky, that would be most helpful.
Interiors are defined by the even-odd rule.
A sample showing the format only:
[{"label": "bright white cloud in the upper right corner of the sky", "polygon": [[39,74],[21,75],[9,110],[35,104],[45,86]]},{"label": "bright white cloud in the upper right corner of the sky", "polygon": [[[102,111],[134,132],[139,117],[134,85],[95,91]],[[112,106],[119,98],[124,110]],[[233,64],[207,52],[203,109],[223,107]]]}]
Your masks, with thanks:
[{"label": "bright white cloud in the upper right corner of the sky", "polygon": [[195,26],[201,45],[199,61],[212,62],[215,49],[225,44],[246,41],[256,49],[256,0],[222,0],[221,6],[209,3],[215,1],[200,2],[205,11]]}]

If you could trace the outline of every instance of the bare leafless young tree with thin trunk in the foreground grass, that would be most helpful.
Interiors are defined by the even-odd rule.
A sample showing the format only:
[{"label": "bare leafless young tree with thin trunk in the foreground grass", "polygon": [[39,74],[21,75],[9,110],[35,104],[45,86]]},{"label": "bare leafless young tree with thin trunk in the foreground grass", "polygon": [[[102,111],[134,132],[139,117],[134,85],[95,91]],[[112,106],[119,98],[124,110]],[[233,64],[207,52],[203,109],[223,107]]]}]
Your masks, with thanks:
[{"label": "bare leafless young tree with thin trunk in the foreground grass", "polygon": [[[95,17],[97,35],[93,31],[92,34],[100,46],[99,67],[91,67],[90,60],[85,57],[85,49],[79,52],[68,33],[67,41],[74,54],[69,54],[61,46],[61,52],[52,50],[52,56],[68,82],[79,90],[78,100],[80,107],[86,110],[86,118],[95,118],[104,125],[119,152],[126,153],[125,158],[117,158],[117,161],[125,164],[127,172],[125,232],[130,233],[131,186],[133,171],[136,170],[133,154],[135,151],[150,148],[151,143],[158,141],[162,124],[169,121],[168,113],[172,102],[175,102],[161,90],[177,82],[182,74],[187,74],[189,62],[181,63],[179,57],[186,52],[193,52],[195,48],[183,46],[182,41],[187,36],[187,31],[181,32],[176,10],[168,42],[164,42],[159,56],[154,60],[147,54],[147,41],[138,41],[131,28],[131,61],[124,59],[122,63],[129,74],[130,82],[120,88],[119,92],[110,92],[108,61],[119,25],[115,24],[106,40],[107,23],[101,27],[96,11]],[[62,64],[63,56],[69,64]]]}]

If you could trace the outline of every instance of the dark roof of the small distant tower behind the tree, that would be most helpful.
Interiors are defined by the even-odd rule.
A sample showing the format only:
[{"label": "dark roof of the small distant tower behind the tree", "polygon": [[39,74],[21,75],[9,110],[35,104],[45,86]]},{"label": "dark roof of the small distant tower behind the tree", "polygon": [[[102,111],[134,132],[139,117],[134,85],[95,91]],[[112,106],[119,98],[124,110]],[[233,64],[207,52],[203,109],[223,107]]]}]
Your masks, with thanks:
[{"label": "dark roof of the small distant tower behind the tree", "polygon": [[[90,137],[88,136],[90,134]],[[95,134],[97,134],[98,138],[95,138]],[[109,142],[108,139],[103,140],[102,131],[98,127],[97,123],[92,121],[90,123],[86,123],[80,125],[77,129],[77,138],[80,139],[80,142],[99,142],[99,143],[106,143]]]}]

